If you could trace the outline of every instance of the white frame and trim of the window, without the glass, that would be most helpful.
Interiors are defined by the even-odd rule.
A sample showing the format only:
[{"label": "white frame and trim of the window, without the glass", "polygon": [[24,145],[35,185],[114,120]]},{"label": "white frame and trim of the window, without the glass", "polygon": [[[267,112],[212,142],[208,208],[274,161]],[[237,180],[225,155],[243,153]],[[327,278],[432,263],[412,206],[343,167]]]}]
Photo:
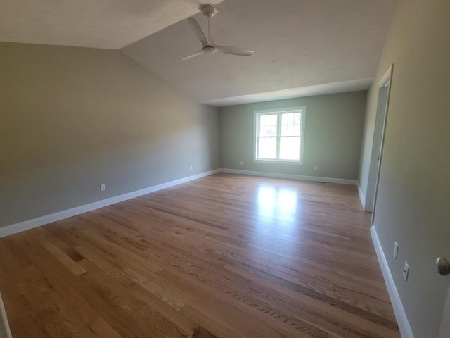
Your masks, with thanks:
[{"label": "white frame and trim of the window, without the glass", "polygon": [[[259,163],[288,163],[288,164],[297,164],[302,165],[303,164],[303,153],[304,153],[304,125],[306,122],[306,116],[307,116],[307,107],[306,106],[300,106],[300,107],[290,107],[290,108],[277,108],[277,109],[264,109],[259,111],[254,111],[254,118],[253,118],[253,162],[259,162]],[[280,155],[280,134],[281,134],[281,115],[283,113],[301,113],[301,120],[302,125],[300,128],[300,160],[299,161],[293,161],[293,160],[280,160],[280,159],[260,159],[258,158],[258,139],[259,139],[259,116],[260,115],[278,115],[278,123],[277,123],[277,136],[276,136],[276,155]]]}]

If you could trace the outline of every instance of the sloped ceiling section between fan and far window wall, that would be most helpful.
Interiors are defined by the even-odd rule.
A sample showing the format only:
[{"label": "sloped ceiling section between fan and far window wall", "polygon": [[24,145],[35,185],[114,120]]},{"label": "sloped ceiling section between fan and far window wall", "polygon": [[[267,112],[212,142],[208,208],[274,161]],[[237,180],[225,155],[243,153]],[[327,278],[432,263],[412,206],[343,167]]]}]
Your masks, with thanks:
[{"label": "sloped ceiling section between fan and far window wall", "polygon": [[[122,51],[199,102],[226,106],[367,89],[397,1],[226,0],[211,22],[217,44],[253,56],[201,55],[182,20]],[[195,15],[206,30],[207,20]]]}]

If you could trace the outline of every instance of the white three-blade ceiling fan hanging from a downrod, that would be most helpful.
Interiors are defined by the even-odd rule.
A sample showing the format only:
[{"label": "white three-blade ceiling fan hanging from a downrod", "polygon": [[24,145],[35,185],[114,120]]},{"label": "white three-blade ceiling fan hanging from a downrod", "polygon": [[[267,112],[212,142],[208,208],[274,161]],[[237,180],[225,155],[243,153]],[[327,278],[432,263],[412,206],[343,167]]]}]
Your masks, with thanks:
[{"label": "white three-blade ceiling fan hanging from a downrod", "polygon": [[195,56],[199,56],[200,54],[215,54],[217,51],[238,56],[250,56],[253,54],[253,51],[250,51],[249,49],[219,46],[215,44],[214,40],[211,37],[210,20],[214,16],[214,14],[217,13],[217,9],[212,4],[202,4],[200,5],[199,9],[200,11],[202,11],[203,15],[208,18],[208,34],[206,35],[205,32],[203,32],[202,27],[200,27],[197,20],[195,20],[194,18],[188,18],[189,24],[191,25],[193,31],[195,32],[195,35],[197,35],[203,46],[200,51],[186,56],[186,58],[182,58],[181,60],[195,58]]}]

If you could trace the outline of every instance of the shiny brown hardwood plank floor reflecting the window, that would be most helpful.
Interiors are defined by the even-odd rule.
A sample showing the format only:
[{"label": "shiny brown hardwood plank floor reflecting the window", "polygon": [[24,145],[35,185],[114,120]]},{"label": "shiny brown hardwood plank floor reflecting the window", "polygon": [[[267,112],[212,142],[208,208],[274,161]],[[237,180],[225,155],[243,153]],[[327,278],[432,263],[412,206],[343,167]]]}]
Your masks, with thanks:
[{"label": "shiny brown hardwood plank floor reflecting the window", "polygon": [[217,174],[0,239],[13,338],[399,338],[356,188]]}]

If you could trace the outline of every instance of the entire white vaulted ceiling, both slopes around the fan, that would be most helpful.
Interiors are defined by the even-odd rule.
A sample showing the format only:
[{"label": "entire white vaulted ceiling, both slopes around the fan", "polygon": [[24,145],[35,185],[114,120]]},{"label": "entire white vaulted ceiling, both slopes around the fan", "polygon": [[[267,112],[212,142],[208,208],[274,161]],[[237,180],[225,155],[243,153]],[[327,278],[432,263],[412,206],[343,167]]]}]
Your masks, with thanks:
[{"label": "entire white vaulted ceiling, both slopes around the fan", "polygon": [[253,56],[188,56],[200,0],[2,0],[0,41],[121,49],[198,102],[225,106],[367,89],[397,0],[205,0],[217,44]]}]

